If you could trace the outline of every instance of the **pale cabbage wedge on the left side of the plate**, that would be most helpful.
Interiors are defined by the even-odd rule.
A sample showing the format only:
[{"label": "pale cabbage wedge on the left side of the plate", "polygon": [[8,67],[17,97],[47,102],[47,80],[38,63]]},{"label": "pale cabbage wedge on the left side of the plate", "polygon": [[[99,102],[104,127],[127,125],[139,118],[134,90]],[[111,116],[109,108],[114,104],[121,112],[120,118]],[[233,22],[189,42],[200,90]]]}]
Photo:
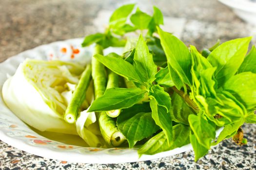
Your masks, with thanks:
[{"label": "pale cabbage wedge on the left side of the plate", "polygon": [[[64,121],[72,90],[84,68],[75,63],[27,59],[3,85],[6,105],[21,120],[40,130],[78,135],[76,125]],[[72,93],[71,93],[72,94]]]}]

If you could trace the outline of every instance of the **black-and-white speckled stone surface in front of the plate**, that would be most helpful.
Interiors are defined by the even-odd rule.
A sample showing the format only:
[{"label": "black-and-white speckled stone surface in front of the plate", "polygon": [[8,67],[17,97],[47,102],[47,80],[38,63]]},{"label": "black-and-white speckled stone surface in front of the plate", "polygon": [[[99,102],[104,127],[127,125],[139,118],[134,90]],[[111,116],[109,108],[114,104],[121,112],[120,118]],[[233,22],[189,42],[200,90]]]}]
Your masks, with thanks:
[{"label": "black-and-white speckled stone surface in front of the plate", "polygon": [[0,170],[255,170],[256,125],[243,127],[248,145],[239,147],[225,140],[194,162],[192,151],[160,158],[124,164],[80,164],[47,159],[17,150],[0,142]]}]

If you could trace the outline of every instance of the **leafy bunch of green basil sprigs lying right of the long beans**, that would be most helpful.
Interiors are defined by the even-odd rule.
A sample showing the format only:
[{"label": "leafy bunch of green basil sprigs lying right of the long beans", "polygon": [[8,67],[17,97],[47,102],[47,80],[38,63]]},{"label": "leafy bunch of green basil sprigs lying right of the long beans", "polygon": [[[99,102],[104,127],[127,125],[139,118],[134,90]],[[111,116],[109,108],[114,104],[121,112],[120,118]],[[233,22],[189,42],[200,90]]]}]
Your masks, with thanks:
[{"label": "leafy bunch of green basil sprigs lying right of the long beans", "polygon": [[[256,117],[255,47],[245,57],[251,37],[222,44],[218,40],[199,52],[158,27],[163,24],[158,8],[154,7],[152,17],[138,8],[133,13],[134,5],[124,8],[114,12],[110,22],[112,33],[118,28],[118,35],[126,41],[123,55],[97,54],[94,59],[123,77],[127,88],[107,89],[89,111],[120,109],[117,127],[129,146],[145,142],[139,155],[171,150],[190,141],[197,161],[211,145],[226,138],[246,143],[239,128],[244,122],[255,123]],[[120,9],[125,13],[118,18]],[[127,32],[121,30],[128,20],[133,31],[147,30],[147,34],[140,34],[138,40],[125,38]],[[219,126],[224,129],[213,142]]]}]

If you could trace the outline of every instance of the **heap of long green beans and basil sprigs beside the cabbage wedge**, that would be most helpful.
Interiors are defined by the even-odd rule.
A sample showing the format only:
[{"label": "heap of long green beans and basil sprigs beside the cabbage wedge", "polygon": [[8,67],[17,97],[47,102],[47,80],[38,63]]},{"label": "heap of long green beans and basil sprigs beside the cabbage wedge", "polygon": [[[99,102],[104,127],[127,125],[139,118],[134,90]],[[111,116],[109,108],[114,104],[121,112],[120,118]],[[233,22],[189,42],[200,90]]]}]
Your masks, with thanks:
[{"label": "heap of long green beans and basil sprigs beside the cabbage wedge", "polygon": [[[247,54],[252,37],[198,51],[161,24],[157,7],[150,16],[128,4],[113,13],[104,33],[86,36],[82,46],[96,44],[94,55],[63,119],[91,147],[129,145],[139,155],[191,143],[197,161],[226,138],[246,144],[241,126],[256,123],[255,46]],[[124,52],[103,54],[108,47]],[[92,87],[94,101],[84,110]]]}]

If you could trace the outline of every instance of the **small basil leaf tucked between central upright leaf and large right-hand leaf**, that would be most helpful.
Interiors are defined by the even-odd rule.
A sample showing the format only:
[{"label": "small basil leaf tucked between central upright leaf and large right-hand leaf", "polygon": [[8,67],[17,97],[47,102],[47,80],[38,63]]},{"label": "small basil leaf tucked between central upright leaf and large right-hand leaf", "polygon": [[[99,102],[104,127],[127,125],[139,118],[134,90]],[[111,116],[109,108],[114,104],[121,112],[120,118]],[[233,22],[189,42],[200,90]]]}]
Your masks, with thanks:
[{"label": "small basil leaf tucked between central upright leaf and large right-hand leaf", "polygon": [[174,82],[172,81],[168,67],[162,68],[158,71],[158,73],[156,74],[156,82],[158,83],[158,85],[166,87],[174,86]]}]

